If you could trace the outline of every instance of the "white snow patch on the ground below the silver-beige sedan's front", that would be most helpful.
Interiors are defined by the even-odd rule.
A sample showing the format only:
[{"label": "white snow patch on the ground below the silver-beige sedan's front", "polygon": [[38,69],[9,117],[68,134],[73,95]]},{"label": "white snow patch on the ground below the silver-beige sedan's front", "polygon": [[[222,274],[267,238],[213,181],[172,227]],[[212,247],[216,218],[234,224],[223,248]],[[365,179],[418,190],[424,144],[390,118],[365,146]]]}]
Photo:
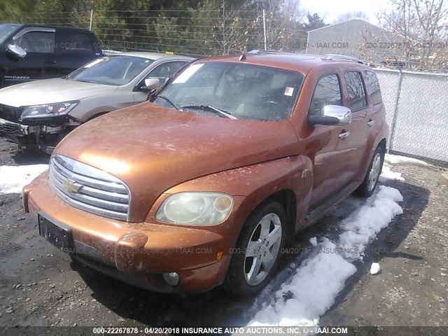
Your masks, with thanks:
[{"label": "white snow patch on the ground below the silver-beige sedan's front", "polygon": [[48,169],[48,165],[0,166],[0,195],[22,193],[22,188]]}]

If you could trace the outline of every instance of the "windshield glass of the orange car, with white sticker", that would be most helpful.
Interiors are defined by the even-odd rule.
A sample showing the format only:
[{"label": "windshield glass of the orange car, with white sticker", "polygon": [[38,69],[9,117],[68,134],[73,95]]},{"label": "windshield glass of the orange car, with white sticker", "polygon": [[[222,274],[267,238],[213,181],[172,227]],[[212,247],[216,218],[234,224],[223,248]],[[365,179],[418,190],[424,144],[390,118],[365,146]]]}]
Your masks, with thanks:
[{"label": "windshield glass of the orange car, with white sticker", "polygon": [[290,117],[302,73],[235,62],[192,64],[159,92],[155,104],[225,118],[278,121]]}]

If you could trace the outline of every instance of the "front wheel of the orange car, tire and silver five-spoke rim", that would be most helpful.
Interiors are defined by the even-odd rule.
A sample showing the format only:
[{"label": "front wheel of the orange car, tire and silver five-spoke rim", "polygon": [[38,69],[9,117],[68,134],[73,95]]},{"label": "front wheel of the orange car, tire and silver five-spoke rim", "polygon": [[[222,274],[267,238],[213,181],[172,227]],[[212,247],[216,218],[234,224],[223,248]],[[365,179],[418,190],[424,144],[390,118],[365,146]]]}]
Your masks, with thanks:
[{"label": "front wheel of the orange car, tire and silver five-spoke rim", "polygon": [[278,202],[262,202],[248,217],[230,261],[225,288],[253,297],[272,279],[286,239],[286,214]]}]

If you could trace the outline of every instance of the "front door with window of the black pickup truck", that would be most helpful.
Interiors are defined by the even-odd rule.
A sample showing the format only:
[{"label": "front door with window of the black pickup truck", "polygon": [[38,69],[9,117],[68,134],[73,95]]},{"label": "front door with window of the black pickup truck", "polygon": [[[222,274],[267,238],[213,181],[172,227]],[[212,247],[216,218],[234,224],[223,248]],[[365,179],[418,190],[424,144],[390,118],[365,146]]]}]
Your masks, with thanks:
[{"label": "front door with window of the black pickup truck", "polygon": [[13,36],[13,43],[25,49],[27,55],[8,59],[4,68],[5,85],[58,76],[59,71],[54,63],[54,28],[26,27]]}]

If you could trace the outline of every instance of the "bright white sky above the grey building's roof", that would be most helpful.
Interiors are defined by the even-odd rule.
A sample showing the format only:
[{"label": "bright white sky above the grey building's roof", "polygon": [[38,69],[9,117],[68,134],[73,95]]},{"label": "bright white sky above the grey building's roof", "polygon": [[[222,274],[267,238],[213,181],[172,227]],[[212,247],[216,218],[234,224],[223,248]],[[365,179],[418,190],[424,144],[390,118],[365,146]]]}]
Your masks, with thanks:
[{"label": "bright white sky above the grey building's roof", "polygon": [[376,14],[384,8],[386,0],[299,0],[300,9],[311,15],[317,13],[325,23],[333,23],[341,14],[363,11],[370,22],[378,24]]}]

